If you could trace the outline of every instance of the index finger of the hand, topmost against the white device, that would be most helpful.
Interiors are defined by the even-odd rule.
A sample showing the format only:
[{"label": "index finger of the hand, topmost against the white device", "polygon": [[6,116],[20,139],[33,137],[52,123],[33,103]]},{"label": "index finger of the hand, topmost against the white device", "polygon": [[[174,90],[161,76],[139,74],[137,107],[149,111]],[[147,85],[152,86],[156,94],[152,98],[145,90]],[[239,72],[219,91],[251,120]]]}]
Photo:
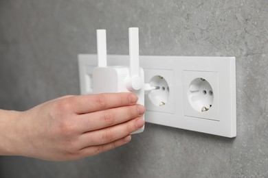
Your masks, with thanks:
[{"label": "index finger of the hand, topmost against the white device", "polygon": [[77,114],[107,110],[113,107],[133,105],[137,96],[132,92],[85,94],[69,98],[73,111]]}]

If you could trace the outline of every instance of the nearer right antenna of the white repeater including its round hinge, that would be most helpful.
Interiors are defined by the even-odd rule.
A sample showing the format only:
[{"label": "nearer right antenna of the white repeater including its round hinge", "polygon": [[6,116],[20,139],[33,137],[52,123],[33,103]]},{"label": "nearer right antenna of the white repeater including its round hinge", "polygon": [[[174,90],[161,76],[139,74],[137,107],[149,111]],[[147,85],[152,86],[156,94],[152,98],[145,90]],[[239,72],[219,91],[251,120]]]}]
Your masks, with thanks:
[{"label": "nearer right antenna of the white repeater including its round hinge", "polygon": [[139,77],[139,28],[129,28],[129,90],[139,90],[143,82]]}]

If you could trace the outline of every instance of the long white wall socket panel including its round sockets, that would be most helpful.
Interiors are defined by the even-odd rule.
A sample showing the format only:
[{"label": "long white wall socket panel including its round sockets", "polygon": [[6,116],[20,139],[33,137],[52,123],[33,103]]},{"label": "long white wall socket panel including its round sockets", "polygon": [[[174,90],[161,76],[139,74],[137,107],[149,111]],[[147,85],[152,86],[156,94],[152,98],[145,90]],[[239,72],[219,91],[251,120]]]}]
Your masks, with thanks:
[{"label": "long white wall socket panel including its round sockets", "polygon": [[[98,65],[97,55],[78,55],[81,94]],[[107,55],[110,66],[128,65],[129,55]],[[146,122],[218,136],[236,136],[235,58],[139,56],[145,83],[159,85],[145,97]]]}]

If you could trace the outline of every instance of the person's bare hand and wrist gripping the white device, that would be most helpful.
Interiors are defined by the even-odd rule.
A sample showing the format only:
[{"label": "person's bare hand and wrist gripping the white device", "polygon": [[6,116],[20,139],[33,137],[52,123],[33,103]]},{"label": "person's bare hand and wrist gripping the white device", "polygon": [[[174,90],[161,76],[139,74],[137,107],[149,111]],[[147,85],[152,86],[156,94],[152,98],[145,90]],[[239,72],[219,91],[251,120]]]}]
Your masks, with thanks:
[{"label": "person's bare hand and wrist gripping the white device", "polygon": [[0,155],[76,160],[131,140],[145,112],[133,93],[65,96],[25,112],[0,110]]}]

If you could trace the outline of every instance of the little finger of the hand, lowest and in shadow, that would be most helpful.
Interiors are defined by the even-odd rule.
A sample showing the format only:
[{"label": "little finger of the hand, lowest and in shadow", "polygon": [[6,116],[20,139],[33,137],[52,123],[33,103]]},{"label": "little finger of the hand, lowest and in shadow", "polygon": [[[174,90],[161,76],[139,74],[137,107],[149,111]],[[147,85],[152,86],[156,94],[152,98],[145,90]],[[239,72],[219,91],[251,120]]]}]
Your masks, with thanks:
[{"label": "little finger of the hand, lowest and in shadow", "polygon": [[120,138],[119,140],[109,142],[107,144],[86,147],[80,151],[80,154],[82,155],[82,157],[89,156],[89,155],[97,155],[99,153],[103,153],[104,151],[109,151],[111,149],[115,149],[116,147],[120,147],[123,144],[126,144],[130,141],[131,141],[131,136],[129,135],[124,138]]}]

